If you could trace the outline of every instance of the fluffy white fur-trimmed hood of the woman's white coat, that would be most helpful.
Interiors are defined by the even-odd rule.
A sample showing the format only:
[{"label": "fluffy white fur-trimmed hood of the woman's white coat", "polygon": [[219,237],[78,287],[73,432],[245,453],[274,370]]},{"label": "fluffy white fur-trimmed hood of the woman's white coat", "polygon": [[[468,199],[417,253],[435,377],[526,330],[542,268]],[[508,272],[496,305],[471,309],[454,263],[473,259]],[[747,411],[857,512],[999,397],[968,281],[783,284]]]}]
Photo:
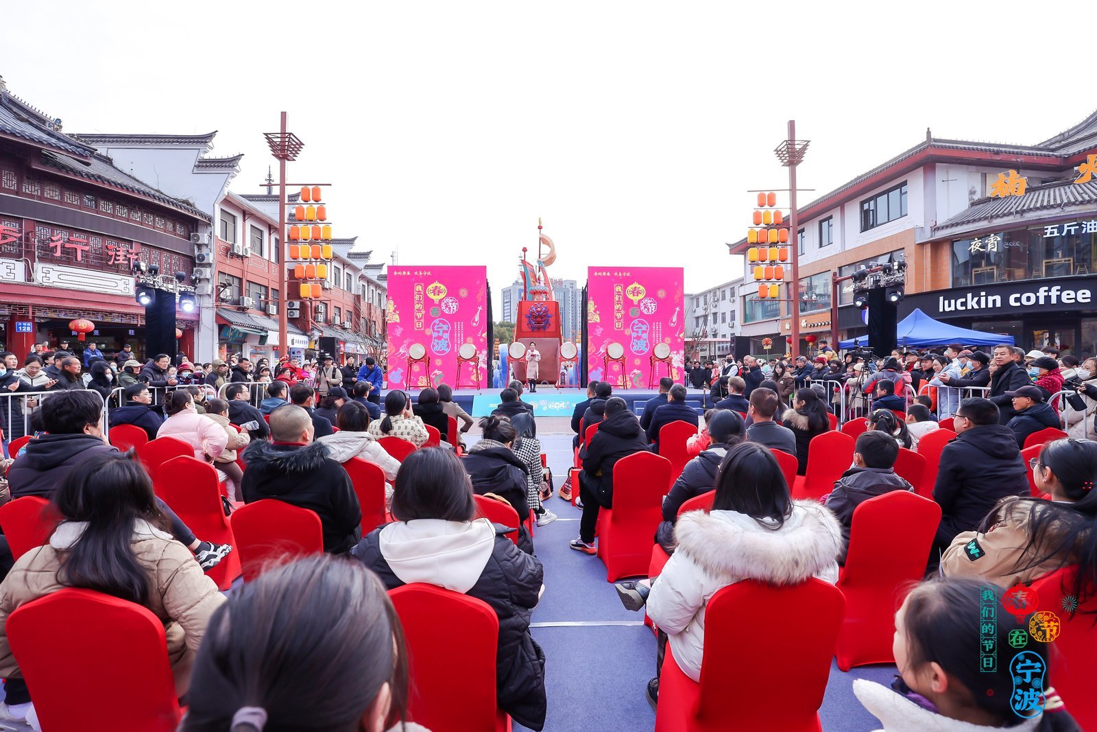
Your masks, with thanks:
[{"label": "fluffy white fur-trimmed hood of the woman's white coat", "polygon": [[780,529],[777,521],[764,521],[773,528],[736,511],[688,511],[675,528],[677,551],[713,577],[778,585],[803,582],[836,566],[841,526],[817,502],[794,500]]}]

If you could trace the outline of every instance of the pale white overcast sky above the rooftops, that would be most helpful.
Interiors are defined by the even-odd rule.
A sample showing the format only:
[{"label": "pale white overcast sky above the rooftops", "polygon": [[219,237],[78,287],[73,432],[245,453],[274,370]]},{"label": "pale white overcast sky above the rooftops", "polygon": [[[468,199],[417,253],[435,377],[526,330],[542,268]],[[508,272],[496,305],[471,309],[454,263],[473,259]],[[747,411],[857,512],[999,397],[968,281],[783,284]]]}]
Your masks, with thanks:
[{"label": "pale white overcast sky above the rooftops", "polygon": [[812,140],[803,202],[927,126],[1056,134],[1097,109],[1095,5],[12,1],[0,75],[66,132],[217,129],[214,155],[245,153],[239,192],[259,189],[285,110],[306,145],[292,180],[335,184],[337,236],[374,261],[487,264],[498,304],[538,216],[553,277],[738,277],[724,243],[748,189],[787,188],[789,119]]}]

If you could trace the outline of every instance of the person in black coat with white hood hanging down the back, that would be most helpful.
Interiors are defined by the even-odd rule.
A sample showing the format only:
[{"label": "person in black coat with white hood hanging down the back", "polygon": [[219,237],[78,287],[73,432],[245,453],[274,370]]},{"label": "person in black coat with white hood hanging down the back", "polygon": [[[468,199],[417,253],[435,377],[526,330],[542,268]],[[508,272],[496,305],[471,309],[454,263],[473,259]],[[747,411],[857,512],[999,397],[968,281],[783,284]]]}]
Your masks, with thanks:
[{"label": "person in black coat with white hood hanging down the back", "polygon": [[530,633],[541,562],[514,547],[507,527],[475,518],[464,465],[448,450],[416,450],[404,461],[392,511],[396,521],[371,531],[351,554],[388,589],[426,583],[487,603],[499,618],[496,701],[517,723],[544,729],[545,656]]}]

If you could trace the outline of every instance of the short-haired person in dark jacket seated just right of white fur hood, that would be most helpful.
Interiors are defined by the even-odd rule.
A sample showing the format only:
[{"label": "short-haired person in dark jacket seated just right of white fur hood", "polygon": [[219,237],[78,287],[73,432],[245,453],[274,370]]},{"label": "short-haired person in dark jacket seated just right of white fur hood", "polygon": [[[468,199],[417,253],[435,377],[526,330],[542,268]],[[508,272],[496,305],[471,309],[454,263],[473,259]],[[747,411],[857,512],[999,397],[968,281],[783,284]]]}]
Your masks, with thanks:
[{"label": "short-haired person in dark jacket seated just right of white fur hood", "polygon": [[891,435],[879,430],[862,432],[853,449],[853,466],[841,474],[834,484],[834,491],[823,499],[823,505],[833,510],[841,522],[841,545],[839,564],[846,563],[849,551],[849,528],[853,523],[853,511],[869,498],[882,496],[892,491],[914,491],[914,486],[895,474],[895,459],[898,458],[898,442]]}]

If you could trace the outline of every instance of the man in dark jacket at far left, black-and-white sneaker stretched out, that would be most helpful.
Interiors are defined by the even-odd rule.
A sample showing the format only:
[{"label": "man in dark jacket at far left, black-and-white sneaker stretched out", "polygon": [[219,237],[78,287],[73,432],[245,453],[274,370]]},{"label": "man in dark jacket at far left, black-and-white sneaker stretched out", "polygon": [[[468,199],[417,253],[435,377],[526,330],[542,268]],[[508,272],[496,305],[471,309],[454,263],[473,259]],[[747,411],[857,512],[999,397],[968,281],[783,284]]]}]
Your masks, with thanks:
[{"label": "man in dark jacket at far left, black-and-white sneaker stretched out", "polygon": [[[8,485],[12,498],[41,496],[53,498],[57,488],[72,471],[78,471],[89,458],[117,452],[108,444],[100,426],[103,401],[89,391],[70,391],[42,401],[42,428],[47,432],[26,443],[26,452],[11,464]],[[185,523],[156,499],[171,522],[171,533],[194,552],[202,568],[208,572],[233,547],[199,541]]]}]

